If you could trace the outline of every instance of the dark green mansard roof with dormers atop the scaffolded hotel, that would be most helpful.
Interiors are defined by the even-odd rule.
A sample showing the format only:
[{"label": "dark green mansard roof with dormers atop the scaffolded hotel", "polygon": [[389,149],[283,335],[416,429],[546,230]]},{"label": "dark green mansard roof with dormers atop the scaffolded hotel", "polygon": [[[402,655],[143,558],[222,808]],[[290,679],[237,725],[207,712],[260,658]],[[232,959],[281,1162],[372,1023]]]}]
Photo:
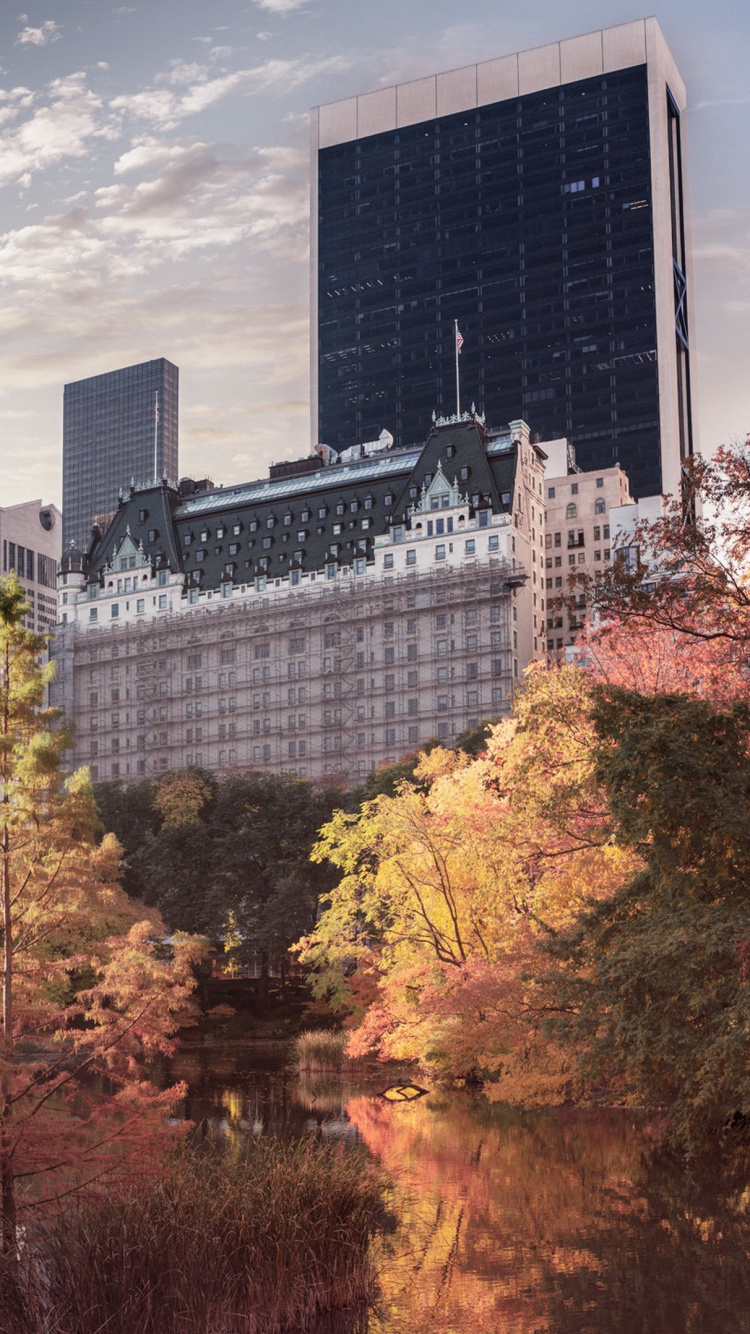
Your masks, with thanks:
[{"label": "dark green mansard roof with dormers atop the scaffolded hotel", "polygon": [[194,587],[372,559],[376,536],[408,520],[440,467],[470,504],[511,508],[518,447],[476,414],[435,420],[426,444],[181,498],[163,483],[133,490],[89,552],[93,578],[129,538],[153,568],[184,571]]}]

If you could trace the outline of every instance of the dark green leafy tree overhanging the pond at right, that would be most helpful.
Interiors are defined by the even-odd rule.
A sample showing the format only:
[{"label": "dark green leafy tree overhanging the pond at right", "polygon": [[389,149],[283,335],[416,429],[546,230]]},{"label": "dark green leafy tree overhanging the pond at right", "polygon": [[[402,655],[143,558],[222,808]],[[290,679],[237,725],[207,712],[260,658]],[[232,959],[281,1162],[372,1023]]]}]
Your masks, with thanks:
[{"label": "dark green leafy tree overhanging the pond at right", "polygon": [[641,867],[554,942],[555,1027],[695,1149],[750,1115],[750,707],[599,687],[593,720],[617,844]]}]

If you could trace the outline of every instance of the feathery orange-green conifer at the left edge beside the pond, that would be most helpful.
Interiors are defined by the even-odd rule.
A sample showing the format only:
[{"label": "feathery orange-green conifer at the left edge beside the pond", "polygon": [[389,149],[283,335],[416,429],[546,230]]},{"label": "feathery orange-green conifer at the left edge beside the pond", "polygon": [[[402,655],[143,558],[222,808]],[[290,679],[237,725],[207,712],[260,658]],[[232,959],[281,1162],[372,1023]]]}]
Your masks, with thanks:
[{"label": "feathery orange-green conifer at the left edge beside the pond", "polygon": [[[63,776],[69,738],[44,707],[45,640],[21,626],[15,575],[0,582],[1,1243],[19,1206],[155,1161],[180,1089],[144,1078],[191,1013],[202,947],[163,944],[157,914],[119,886],[120,850],[97,839],[88,772]],[[96,1079],[101,1077],[101,1079]],[[103,1082],[104,1081],[104,1082]]]}]

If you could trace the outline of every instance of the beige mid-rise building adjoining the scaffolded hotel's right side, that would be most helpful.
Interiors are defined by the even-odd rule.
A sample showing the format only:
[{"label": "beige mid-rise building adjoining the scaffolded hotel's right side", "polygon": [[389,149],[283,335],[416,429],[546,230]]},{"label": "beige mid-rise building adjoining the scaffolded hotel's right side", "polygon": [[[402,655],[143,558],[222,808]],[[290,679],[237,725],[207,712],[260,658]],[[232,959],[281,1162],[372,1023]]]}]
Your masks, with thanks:
[{"label": "beige mid-rise building adjoining the scaffolded hotel's right side", "polygon": [[547,654],[559,658],[591,612],[586,591],[571,588],[570,576],[602,578],[615,555],[618,515],[630,512],[622,507],[634,502],[622,468],[583,472],[567,440],[547,444],[544,452]]}]

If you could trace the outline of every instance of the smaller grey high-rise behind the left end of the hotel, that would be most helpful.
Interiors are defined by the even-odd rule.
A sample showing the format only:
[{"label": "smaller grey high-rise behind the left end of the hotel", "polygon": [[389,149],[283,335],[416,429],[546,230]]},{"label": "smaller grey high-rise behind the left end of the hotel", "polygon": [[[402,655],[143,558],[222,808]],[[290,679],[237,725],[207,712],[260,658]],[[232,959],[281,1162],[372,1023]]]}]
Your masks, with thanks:
[{"label": "smaller grey high-rise behind the left end of the hotel", "polygon": [[163,356],[65,384],[63,546],[85,551],[131,482],[177,478],[179,371]]}]

